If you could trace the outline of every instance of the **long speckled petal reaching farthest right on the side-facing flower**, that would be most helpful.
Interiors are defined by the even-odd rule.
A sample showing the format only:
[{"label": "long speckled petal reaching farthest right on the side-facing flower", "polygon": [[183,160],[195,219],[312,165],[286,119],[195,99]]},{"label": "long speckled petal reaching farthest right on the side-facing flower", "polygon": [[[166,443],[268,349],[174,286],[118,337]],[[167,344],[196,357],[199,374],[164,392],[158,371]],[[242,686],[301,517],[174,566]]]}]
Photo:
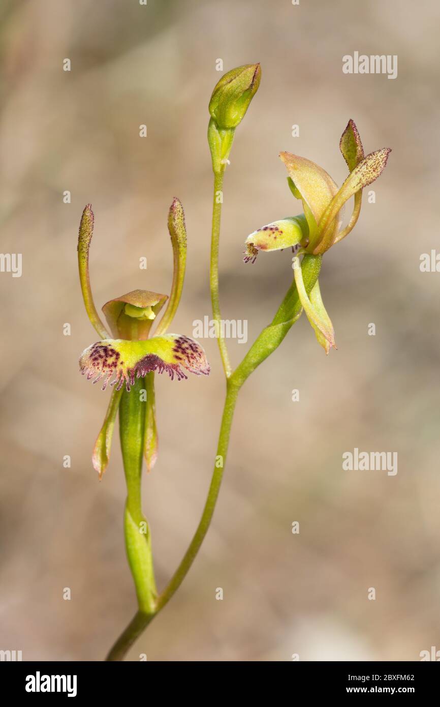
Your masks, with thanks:
[{"label": "long speckled petal reaching farthest right on the side-facing flower", "polygon": [[[335,230],[333,227],[333,222],[338,216],[340,209],[342,209],[350,197],[352,197],[359,189],[367,187],[371,182],[374,182],[386,167],[386,162],[388,160],[388,155],[391,152],[390,148],[383,148],[382,150],[377,150],[376,152],[371,152],[367,157],[365,157],[354,170],[348,175],[347,179],[340,187],[338,194],[333,197],[331,203],[328,205],[325,213],[321,217],[319,222],[319,233],[321,234],[321,240],[319,244],[314,249],[314,254],[319,255],[326,252],[328,248],[333,243],[333,236],[335,235]],[[346,235],[346,234],[345,234]]]}]

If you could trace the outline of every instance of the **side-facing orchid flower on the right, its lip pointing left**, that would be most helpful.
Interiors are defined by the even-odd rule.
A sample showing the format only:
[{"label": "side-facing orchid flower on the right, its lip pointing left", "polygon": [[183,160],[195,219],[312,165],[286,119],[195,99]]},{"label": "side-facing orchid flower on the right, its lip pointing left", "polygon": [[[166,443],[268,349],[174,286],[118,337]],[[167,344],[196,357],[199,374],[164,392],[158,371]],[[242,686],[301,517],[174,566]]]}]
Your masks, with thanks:
[{"label": "side-facing orchid flower on the right, its lip pointing left", "polygon": [[[340,189],[331,176],[311,160],[289,152],[280,153],[289,175],[287,181],[290,190],[297,199],[301,199],[304,214],[273,221],[258,228],[246,238],[244,252],[244,262],[255,262],[260,251],[292,247],[292,267],[298,296],[314,328],[316,339],[326,354],[332,347],[336,348],[333,325],[323,305],[319,281],[316,281],[310,295],[307,295],[299,256],[307,254],[321,257],[350,233],[359,218],[362,189],[381,175],[391,152],[390,148],[383,148],[365,157],[353,120],[349,120],[339,146],[350,170]],[[342,209],[351,197],[355,197],[352,216],[347,226],[342,228]]]}]

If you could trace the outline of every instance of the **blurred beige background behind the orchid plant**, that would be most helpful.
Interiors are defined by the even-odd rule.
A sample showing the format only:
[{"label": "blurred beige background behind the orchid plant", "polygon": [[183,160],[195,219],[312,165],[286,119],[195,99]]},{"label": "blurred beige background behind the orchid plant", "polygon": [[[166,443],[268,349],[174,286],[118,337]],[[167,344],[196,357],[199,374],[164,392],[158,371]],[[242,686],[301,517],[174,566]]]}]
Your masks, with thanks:
[{"label": "blurred beige background behind the orchid plant", "polygon": [[[338,142],[350,117],[366,151],[393,152],[372,187],[376,203],[364,200],[355,232],[324,259],[338,351],[326,358],[302,317],[246,383],[213,526],[129,658],[419,660],[439,650],[440,274],[419,268],[439,242],[439,4],[0,7],[1,251],[23,253],[21,278],[0,275],[0,648],[23,650],[23,660],[101,660],[133,614],[117,435],[101,484],[90,462],[109,392],[78,375],[79,354],[97,339],[78,284],[78,224],[91,201],[98,308],[134,288],[166,293],[167,209],[178,196],[189,259],[172,328],[191,335],[210,314],[206,128],[221,58],[225,71],[263,69],[225,179],[222,311],[249,320],[248,344],[230,341],[234,362],[290,281],[288,252],[242,262],[246,235],[301,211],[278,152],[307,156],[342,183]],[[398,54],[398,78],[343,74],[355,50]],[[215,455],[224,385],[215,341],[202,343],[210,378],[157,380],[160,457],[143,495],[160,586],[194,532]],[[398,452],[396,477],[343,472],[355,447]]]}]

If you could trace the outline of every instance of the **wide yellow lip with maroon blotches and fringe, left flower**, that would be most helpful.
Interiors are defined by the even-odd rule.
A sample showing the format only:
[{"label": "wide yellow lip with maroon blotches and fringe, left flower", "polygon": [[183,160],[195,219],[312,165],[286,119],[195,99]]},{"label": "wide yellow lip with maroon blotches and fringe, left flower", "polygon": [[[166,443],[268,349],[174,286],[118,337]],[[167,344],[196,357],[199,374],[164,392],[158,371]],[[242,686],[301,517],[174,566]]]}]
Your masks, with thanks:
[{"label": "wide yellow lip with maroon blotches and fringe, left flower", "polygon": [[173,379],[186,378],[184,370],[196,375],[209,375],[210,366],[206,361],[205,351],[194,339],[180,334],[167,334],[144,341],[126,341],[125,339],[104,339],[83,351],[79,361],[83,375],[88,380],[95,378],[96,383],[104,378],[102,390],[105,390],[111,378],[111,385],[119,390],[124,381],[130,390],[136,378],[143,378],[150,370],[163,373],[164,370]]}]

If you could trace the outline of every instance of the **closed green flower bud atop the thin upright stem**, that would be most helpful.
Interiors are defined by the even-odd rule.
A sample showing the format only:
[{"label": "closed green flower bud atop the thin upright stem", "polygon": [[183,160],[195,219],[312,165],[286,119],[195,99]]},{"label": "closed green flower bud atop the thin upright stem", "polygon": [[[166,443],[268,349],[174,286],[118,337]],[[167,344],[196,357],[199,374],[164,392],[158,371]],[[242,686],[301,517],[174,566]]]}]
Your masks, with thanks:
[{"label": "closed green flower bud atop the thin upright stem", "polygon": [[209,102],[210,116],[220,130],[242,122],[261,81],[260,64],[246,64],[220,78]]}]

